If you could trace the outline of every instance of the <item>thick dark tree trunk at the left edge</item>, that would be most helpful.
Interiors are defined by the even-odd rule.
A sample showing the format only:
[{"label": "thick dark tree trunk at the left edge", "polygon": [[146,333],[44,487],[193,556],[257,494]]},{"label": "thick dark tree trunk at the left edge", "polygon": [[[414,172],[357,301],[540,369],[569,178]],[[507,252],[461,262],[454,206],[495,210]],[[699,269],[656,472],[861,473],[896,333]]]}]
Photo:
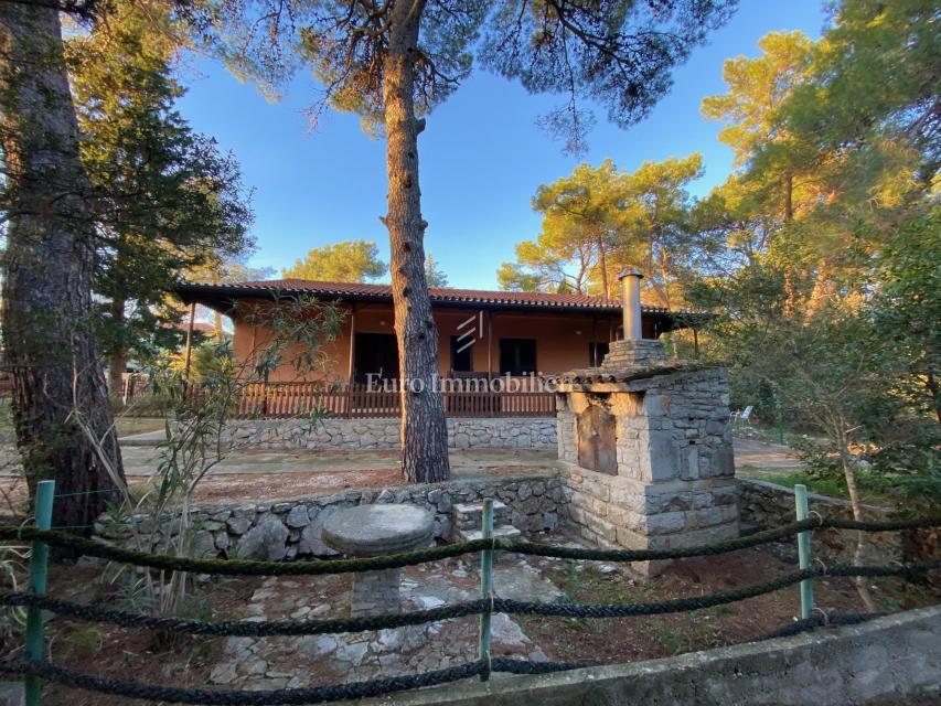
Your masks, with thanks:
[{"label": "thick dark tree trunk at the left edge", "polygon": [[118,480],[124,473],[90,320],[90,186],[51,6],[0,2],[0,87],[2,319],[17,445],[31,491],[54,478],[56,493],[67,494],[53,506],[53,525],[88,532],[109,501],[98,491],[115,488],[108,469]]}]

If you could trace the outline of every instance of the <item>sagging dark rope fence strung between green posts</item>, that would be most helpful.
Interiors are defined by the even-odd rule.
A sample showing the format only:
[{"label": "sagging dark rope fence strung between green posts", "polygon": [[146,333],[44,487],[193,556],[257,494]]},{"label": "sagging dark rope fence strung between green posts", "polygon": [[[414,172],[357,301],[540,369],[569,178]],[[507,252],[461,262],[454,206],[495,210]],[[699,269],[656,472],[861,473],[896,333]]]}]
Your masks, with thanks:
[{"label": "sagging dark rope fence strung between green posts", "polygon": [[[46,485],[49,483],[49,485]],[[811,614],[813,609],[812,581],[824,577],[900,577],[911,580],[926,571],[941,569],[941,560],[922,560],[908,564],[895,563],[877,566],[825,566],[817,561],[810,566],[810,535],[824,528],[856,530],[860,532],[898,532],[941,526],[941,516],[916,520],[858,522],[851,520],[809,516],[805,489],[798,486],[796,515],[800,518],[780,527],[759,532],[747,537],[726,542],[674,549],[587,549],[558,547],[548,544],[493,537],[488,533],[492,526],[492,501],[485,501],[483,510],[483,538],[432,547],[417,552],[387,556],[297,561],[257,561],[245,559],[195,559],[162,554],[148,554],[124,547],[103,544],[57,530],[50,530],[49,512],[52,506],[54,484],[40,483],[36,493],[36,526],[17,527],[0,525],[0,541],[30,542],[33,546],[30,564],[31,592],[0,591],[0,606],[28,609],[24,659],[0,660],[0,673],[20,674],[25,677],[26,706],[39,706],[40,683],[46,681],[64,686],[179,704],[319,704],[331,700],[364,698],[402,691],[446,684],[458,680],[480,677],[486,681],[491,673],[542,674],[587,666],[585,662],[528,662],[494,657],[490,650],[490,617],[496,613],[515,616],[544,616],[563,618],[628,618],[688,612],[738,602],[783,588],[801,586],[801,620],[760,639],[796,634],[821,625],[855,624],[877,617],[863,614]],[[768,581],[742,586],[728,591],[706,596],[677,598],[664,601],[630,603],[575,603],[533,602],[498,598],[492,588],[492,559],[494,552],[514,552],[524,555],[555,557],[560,559],[633,563],[666,559],[683,559],[697,556],[716,556],[729,552],[798,537],[800,568],[796,571]],[[481,553],[481,598],[406,613],[371,616],[328,620],[282,621],[220,621],[210,622],[180,618],[160,618],[116,609],[99,608],[45,596],[49,548],[54,546],[76,555],[97,557],[110,561],[130,564],[158,570],[185,571],[224,576],[324,576],[351,574],[415,566],[428,561]],[[111,680],[52,664],[43,656],[43,613],[49,611],[69,620],[109,623],[126,629],[150,629],[173,633],[215,637],[289,637],[361,632],[384,630],[406,625],[425,624],[469,616],[479,616],[479,660],[443,670],[420,674],[381,677],[363,682],[350,682],[331,686],[308,688],[284,688],[276,691],[207,691],[152,685],[131,681]]]}]

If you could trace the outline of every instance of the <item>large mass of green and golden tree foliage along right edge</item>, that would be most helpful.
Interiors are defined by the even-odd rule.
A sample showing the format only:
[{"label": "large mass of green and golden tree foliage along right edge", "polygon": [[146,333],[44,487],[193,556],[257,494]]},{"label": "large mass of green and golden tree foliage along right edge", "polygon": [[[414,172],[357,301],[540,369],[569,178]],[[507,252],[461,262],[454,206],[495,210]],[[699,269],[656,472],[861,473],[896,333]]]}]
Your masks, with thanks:
[{"label": "large mass of green and golden tree foliage along right edge", "polygon": [[717,313],[704,350],[739,404],[823,435],[811,468],[836,459],[857,513],[859,482],[941,493],[934,4],[844,0],[821,40],[729,60],[703,104],[736,151],[695,210],[724,245],[687,288]]}]

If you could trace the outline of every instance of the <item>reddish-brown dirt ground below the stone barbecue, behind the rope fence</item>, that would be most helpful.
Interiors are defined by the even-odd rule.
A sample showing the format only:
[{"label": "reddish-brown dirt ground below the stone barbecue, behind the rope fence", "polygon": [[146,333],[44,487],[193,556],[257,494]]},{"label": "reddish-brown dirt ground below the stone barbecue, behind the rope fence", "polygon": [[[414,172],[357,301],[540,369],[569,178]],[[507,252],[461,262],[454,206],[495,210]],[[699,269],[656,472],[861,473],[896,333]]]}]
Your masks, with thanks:
[{"label": "reddish-brown dirt ground below the stone barbecue, behind the rope fence", "polygon": [[[567,564],[552,574],[552,579],[573,601],[630,603],[704,596],[763,584],[793,571],[794,564],[767,547],[756,547],[719,557],[675,561],[664,574],[649,580],[633,580],[621,573],[603,575],[594,565],[576,569]],[[879,579],[869,586],[884,611],[930,606],[941,600],[941,585],[921,588],[897,579]],[[798,619],[798,590],[794,586],[688,613],[594,620],[523,618],[521,623],[552,660],[635,662],[761,638]],[[814,607],[865,612],[849,579],[815,581]]]}]

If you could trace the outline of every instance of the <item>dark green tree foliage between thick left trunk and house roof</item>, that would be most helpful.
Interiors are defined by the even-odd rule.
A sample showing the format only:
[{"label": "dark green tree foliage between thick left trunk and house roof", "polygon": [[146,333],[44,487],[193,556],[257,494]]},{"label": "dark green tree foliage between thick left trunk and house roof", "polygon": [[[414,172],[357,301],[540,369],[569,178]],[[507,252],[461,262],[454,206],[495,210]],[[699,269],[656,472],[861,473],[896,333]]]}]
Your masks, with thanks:
[{"label": "dark green tree foliage between thick left trunk and house roof", "polygon": [[167,290],[188,270],[252,247],[238,164],[175,108],[184,90],[173,76],[178,47],[154,26],[161,11],[114,3],[68,43],[96,213],[98,335],[113,391],[129,354],[179,338],[164,325],[179,318]]}]

